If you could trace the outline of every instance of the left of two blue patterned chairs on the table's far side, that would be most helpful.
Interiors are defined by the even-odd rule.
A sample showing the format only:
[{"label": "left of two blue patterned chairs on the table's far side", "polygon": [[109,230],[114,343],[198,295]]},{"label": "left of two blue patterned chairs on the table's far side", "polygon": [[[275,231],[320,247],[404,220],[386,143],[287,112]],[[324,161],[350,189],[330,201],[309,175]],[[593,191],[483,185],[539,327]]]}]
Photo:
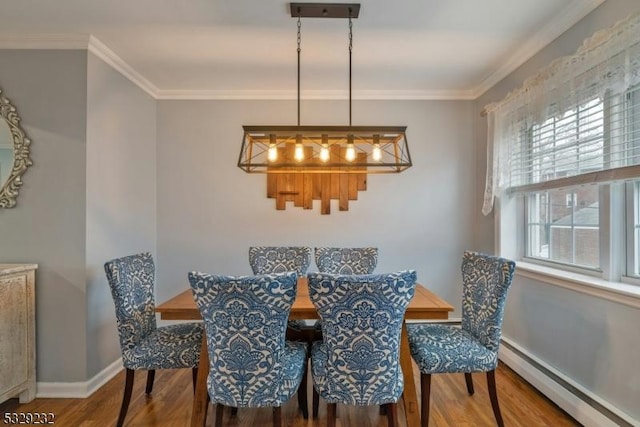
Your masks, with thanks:
[{"label": "left of two blue patterned chairs on the table's far side", "polygon": [[[249,248],[249,264],[253,274],[274,274],[295,271],[298,276],[307,274],[311,264],[311,248],[305,246],[252,246]],[[305,340],[312,333],[304,320],[289,320],[287,338]],[[311,331],[309,331],[311,329]],[[309,341],[308,339],[306,339]]]}]

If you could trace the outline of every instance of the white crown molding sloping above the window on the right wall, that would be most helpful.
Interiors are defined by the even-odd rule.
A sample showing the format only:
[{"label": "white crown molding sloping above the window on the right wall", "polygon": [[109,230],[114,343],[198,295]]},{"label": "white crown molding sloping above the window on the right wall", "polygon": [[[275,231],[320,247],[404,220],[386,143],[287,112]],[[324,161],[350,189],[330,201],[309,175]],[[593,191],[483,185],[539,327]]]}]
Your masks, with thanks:
[{"label": "white crown molding sloping above the window on the right wall", "polygon": [[500,68],[483,80],[473,90],[473,99],[481,97],[485,92],[531,59],[535,54],[548,46],[552,41],[577,24],[578,21],[605,1],[606,0],[573,1],[564,11],[557,14],[554,19],[550,20],[545,26],[540,28],[536,34],[529,38]]}]

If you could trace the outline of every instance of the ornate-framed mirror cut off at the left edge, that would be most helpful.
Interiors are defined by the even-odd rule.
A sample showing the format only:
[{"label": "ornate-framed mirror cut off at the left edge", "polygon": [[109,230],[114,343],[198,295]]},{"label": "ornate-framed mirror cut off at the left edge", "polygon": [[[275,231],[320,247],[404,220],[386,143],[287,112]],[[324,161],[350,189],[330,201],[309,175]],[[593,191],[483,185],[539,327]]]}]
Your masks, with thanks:
[{"label": "ornate-framed mirror cut off at the left edge", "polygon": [[20,127],[16,108],[0,90],[0,208],[16,205],[22,174],[33,164],[29,158],[30,144]]}]

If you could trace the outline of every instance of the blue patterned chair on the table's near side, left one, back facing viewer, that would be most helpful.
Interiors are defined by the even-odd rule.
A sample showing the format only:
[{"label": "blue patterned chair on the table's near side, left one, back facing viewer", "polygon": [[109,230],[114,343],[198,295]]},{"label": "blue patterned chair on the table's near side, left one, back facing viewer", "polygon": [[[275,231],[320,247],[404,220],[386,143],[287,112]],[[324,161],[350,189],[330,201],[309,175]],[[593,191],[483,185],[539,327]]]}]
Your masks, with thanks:
[{"label": "blue patterned chair on the table's near side, left one, back facing viewer", "polygon": [[306,417],[307,346],[285,340],[297,279],[295,272],[238,277],[189,273],[205,324],[207,388],[217,405],[216,426],[222,424],[223,406],[273,407],[273,424],[279,426],[280,407],[296,391]]}]

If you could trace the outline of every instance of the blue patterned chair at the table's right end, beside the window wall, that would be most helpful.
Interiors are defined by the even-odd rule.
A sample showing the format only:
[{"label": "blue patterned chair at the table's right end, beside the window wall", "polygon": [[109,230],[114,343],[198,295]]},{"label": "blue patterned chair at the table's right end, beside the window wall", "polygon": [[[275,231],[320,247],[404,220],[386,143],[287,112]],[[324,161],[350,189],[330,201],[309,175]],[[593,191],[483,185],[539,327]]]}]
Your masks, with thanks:
[{"label": "blue patterned chair at the table's right end, beside the window wall", "polygon": [[504,258],[465,252],[462,259],[462,328],[450,325],[408,325],[411,356],[420,368],[422,426],[429,425],[431,374],[464,373],[469,395],[472,372],[486,372],[491,407],[503,426],[495,369],[502,335],[507,290],[515,263]]}]

